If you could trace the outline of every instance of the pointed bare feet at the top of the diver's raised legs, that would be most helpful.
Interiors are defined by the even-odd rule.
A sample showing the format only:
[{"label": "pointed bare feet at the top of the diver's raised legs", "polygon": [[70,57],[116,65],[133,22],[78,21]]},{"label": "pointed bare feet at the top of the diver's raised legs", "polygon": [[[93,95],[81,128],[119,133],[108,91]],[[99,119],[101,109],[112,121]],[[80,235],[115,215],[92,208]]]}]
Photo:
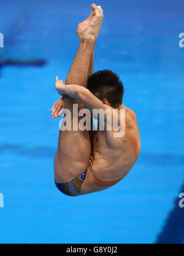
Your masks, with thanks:
[{"label": "pointed bare feet at the top of the diver's raised legs", "polygon": [[93,11],[90,16],[77,26],[77,35],[80,41],[96,41],[104,17],[101,6],[91,5]]}]

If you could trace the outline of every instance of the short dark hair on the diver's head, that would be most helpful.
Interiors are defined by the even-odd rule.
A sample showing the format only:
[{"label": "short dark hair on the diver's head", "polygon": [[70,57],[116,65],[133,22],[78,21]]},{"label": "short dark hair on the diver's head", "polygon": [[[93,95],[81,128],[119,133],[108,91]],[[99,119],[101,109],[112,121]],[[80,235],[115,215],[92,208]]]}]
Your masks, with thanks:
[{"label": "short dark hair on the diver's head", "polygon": [[108,102],[115,108],[121,105],[124,94],[124,86],[120,77],[110,70],[99,70],[88,77],[87,88],[99,100],[107,98]]}]

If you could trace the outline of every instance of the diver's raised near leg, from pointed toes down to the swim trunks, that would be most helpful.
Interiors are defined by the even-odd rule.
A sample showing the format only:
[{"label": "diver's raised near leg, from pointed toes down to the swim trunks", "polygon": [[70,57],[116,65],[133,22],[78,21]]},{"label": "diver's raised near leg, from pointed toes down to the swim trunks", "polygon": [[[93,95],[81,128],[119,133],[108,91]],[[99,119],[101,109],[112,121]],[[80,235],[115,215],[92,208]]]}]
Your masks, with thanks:
[{"label": "diver's raised near leg, from pointed toes down to the swim trunks", "polygon": [[[75,55],[66,84],[79,84],[86,86],[90,66],[91,54],[102,23],[102,14],[96,6],[93,6],[94,14],[78,29],[80,46]],[[73,110],[73,103],[82,103],[64,96],[64,108]],[[80,121],[80,118],[79,118]],[[72,119],[72,123],[77,120]],[[91,142],[88,130],[61,130],[59,131],[58,151],[55,157],[55,182],[69,182],[72,178],[82,174],[89,164]]]}]

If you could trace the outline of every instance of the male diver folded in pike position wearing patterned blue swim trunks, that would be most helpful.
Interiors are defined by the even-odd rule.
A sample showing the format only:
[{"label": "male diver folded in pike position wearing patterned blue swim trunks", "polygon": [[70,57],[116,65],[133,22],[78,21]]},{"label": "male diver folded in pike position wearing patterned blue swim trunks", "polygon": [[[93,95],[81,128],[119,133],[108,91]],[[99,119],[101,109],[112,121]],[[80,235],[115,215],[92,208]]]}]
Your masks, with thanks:
[{"label": "male diver folded in pike position wearing patterned blue swim trunks", "polygon": [[[77,27],[80,46],[65,82],[56,77],[55,88],[63,97],[54,103],[52,118],[58,118],[63,109],[72,113],[74,104],[78,104],[79,111],[87,108],[91,112],[97,109],[113,113],[112,110],[117,110],[118,122],[118,111],[125,110],[125,135],[114,137],[113,129],[99,130],[99,123],[97,130],[59,130],[55,184],[68,196],[110,188],[128,174],[140,153],[136,114],[122,105],[124,87],[120,78],[110,70],[93,73],[94,46],[103,12],[100,6],[91,7],[90,16]],[[72,124],[82,119],[71,117]]]}]

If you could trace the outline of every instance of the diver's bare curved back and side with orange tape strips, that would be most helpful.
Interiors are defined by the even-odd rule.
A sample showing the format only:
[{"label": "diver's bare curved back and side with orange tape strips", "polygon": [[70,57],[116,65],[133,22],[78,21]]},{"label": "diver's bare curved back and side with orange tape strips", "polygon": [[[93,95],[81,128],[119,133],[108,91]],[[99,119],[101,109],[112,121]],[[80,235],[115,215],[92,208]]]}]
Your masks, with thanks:
[{"label": "diver's bare curved back and side with orange tape strips", "polygon": [[[88,190],[104,190],[119,182],[128,174],[139,156],[140,133],[136,114],[124,105],[121,108],[125,109],[125,136],[113,138],[112,132],[109,133],[108,130],[96,130],[91,135],[93,138],[88,171],[93,176],[94,186],[89,186],[89,181],[86,181]],[[111,143],[115,139],[119,143]],[[82,190],[83,193],[87,192],[85,184]]]}]

